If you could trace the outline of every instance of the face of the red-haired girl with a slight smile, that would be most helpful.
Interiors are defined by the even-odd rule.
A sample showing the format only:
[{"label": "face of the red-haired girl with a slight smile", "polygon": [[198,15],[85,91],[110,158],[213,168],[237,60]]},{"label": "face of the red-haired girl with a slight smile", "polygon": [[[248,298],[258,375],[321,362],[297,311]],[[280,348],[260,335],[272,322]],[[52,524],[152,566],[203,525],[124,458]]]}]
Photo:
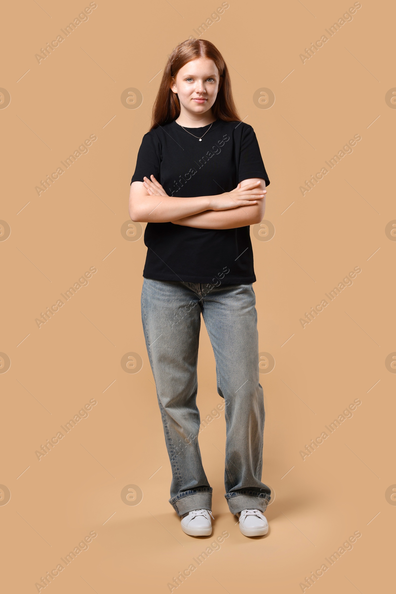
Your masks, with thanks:
[{"label": "face of the red-haired girl with a slight smile", "polygon": [[211,109],[221,83],[223,79],[213,60],[198,58],[180,68],[170,89],[178,94],[180,110],[199,115]]}]

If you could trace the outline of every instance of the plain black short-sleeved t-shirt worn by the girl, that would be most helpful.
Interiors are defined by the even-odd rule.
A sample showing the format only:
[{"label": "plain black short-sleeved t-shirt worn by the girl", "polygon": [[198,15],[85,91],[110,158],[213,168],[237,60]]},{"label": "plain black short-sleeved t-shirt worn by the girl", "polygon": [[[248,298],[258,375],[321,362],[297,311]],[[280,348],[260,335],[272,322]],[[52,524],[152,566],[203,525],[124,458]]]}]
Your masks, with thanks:
[{"label": "plain black short-sleeved t-shirt worn by the girl", "polygon": [[[270,184],[254,129],[221,120],[186,129],[173,121],[145,134],[131,184],[151,174],[167,195],[185,198],[230,192],[249,178]],[[215,284],[221,279],[224,285],[256,280],[249,226],[197,229],[147,223],[144,243],[143,276],[148,279]]]}]

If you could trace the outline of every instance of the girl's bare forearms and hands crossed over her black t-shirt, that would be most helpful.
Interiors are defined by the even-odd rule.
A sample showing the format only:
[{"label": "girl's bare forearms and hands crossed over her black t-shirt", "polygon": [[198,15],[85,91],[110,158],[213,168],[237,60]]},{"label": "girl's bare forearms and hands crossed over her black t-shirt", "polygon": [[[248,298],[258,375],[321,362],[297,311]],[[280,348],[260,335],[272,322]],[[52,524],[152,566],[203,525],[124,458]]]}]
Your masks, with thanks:
[{"label": "girl's bare forearms and hands crossed over her black t-shirt", "polygon": [[168,196],[154,176],[133,182],[129,216],[135,222],[171,222],[198,229],[235,229],[261,222],[265,211],[265,181],[244,179],[231,192],[213,196]]}]

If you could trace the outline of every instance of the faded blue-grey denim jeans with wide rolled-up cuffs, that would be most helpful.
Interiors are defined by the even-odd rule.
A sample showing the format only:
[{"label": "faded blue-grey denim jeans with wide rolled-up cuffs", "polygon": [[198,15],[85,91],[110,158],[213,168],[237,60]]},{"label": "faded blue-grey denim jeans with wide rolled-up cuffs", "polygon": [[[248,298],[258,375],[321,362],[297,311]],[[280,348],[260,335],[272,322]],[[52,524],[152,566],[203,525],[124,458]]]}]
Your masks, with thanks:
[{"label": "faded blue-grey denim jeans with wide rolled-up cuffs", "polygon": [[172,466],[169,503],[179,516],[211,510],[212,488],[198,445],[197,361],[201,314],[225,402],[226,500],[233,514],[265,511],[271,489],[261,482],[264,400],[252,285],[206,285],[144,278],[141,308],[148,357]]}]

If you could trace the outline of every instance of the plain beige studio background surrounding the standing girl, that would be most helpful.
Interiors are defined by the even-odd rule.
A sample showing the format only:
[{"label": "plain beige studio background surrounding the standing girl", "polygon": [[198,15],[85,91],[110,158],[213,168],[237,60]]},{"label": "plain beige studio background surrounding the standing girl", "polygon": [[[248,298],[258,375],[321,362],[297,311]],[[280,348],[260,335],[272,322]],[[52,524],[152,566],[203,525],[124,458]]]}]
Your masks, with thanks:
[{"label": "plain beige studio background surrounding the standing girl", "polygon": [[[259,345],[275,360],[273,371],[261,375],[262,479],[275,500],[267,510],[268,535],[242,536],[223,497],[221,413],[199,437],[214,489],[213,535],[185,535],[167,502],[170,465],[140,318],[146,248],[142,238],[127,241],[121,228],[129,221],[129,183],[167,55],[220,5],[98,0],[89,20],[40,64],[35,54],[77,17],[83,0],[4,8],[0,87],[11,96],[0,109],[0,219],[11,229],[0,241],[0,351],[11,361],[0,374],[0,483],[11,493],[6,503],[7,489],[0,491],[4,591],[36,592],[34,584],[91,531],[97,537],[53,580],[53,593],[169,592],[167,583],[224,531],[229,537],[220,550],[178,591],[301,592],[299,583],[358,530],[361,538],[318,579],[316,593],[385,592],[391,583],[396,376],[385,359],[396,351],[396,243],[385,227],[396,219],[396,111],[385,94],[396,80],[390,2],[363,0],[353,20],[305,64],[299,54],[353,2],[230,0],[202,35],[229,64],[240,115],[255,129],[271,179],[265,220],[275,235],[270,241],[256,239],[253,229],[251,235]],[[138,109],[121,102],[130,88],[142,93]],[[254,103],[262,88],[275,95],[270,109]],[[7,102],[2,97],[0,107]],[[89,152],[39,197],[40,180],[90,134],[97,141]],[[362,140],[353,153],[303,197],[300,185],[354,134]],[[0,239],[7,236],[3,228]],[[362,272],[353,286],[302,328],[305,312],[356,266]],[[39,329],[35,318],[90,267],[97,273],[88,286]],[[142,359],[136,374],[121,366],[131,352]],[[39,461],[35,451],[90,399],[97,405],[88,418]],[[353,418],[303,461],[300,450],[354,399],[362,404]],[[219,402],[202,327],[202,418]],[[138,505],[121,498],[128,485],[141,489]]]}]

